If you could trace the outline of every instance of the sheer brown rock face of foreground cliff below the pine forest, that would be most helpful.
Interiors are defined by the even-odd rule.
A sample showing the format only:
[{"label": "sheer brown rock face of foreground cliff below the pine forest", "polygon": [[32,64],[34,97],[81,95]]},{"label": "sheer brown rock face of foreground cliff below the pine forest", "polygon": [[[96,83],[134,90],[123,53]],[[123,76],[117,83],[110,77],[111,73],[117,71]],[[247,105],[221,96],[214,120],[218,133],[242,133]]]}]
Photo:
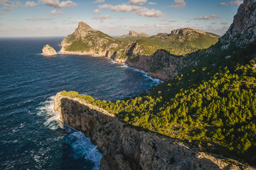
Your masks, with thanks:
[{"label": "sheer brown rock face of foreground cliff below the pine forest", "polygon": [[102,152],[100,169],[253,169],[178,140],[122,123],[80,98],[55,96],[64,123],[82,130]]}]

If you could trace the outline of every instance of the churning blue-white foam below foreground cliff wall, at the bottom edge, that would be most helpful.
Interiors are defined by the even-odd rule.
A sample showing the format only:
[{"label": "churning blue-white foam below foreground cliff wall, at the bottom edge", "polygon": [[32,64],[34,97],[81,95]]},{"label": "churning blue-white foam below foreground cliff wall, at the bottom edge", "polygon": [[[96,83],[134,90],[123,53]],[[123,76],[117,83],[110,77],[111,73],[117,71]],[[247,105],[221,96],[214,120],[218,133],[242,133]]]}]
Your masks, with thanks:
[{"label": "churning blue-white foam below foreground cliff wall, at the bottom edge", "polygon": [[92,145],[89,137],[85,137],[80,131],[73,132],[68,135],[66,143],[72,147],[75,159],[83,157],[93,162],[93,169],[100,169],[102,154],[97,150],[97,146]]}]

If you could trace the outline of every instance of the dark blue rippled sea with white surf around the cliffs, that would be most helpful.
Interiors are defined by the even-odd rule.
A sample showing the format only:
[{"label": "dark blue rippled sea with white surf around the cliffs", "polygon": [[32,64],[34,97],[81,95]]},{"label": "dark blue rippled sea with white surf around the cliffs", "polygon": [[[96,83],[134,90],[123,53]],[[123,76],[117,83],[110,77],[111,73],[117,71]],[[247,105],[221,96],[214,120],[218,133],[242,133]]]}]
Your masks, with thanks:
[{"label": "dark blue rippled sea with white surf around the cliffs", "polygon": [[0,169],[99,169],[102,154],[53,111],[59,91],[116,100],[159,80],[105,57],[41,54],[63,38],[0,38]]}]

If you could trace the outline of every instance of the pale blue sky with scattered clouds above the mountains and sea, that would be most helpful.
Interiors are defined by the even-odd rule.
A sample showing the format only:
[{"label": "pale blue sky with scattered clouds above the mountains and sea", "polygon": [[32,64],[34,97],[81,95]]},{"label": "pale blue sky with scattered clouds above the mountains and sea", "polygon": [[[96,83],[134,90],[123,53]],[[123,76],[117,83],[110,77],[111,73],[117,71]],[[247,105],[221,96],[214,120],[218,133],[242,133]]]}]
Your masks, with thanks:
[{"label": "pale blue sky with scattered clouds above the mountains and sea", "polygon": [[223,35],[243,1],[0,0],[0,37],[69,35],[83,21],[108,35],[195,28]]}]

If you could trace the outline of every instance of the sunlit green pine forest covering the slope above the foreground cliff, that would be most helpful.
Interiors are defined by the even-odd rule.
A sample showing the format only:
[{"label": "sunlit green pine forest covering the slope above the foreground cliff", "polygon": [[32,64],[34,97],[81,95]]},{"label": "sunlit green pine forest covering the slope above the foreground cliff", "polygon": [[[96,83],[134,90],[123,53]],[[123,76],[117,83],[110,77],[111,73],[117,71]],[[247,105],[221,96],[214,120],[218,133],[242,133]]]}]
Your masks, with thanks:
[{"label": "sunlit green pine forest covering the slope above the foreground cliff", "polygon": [[[247,159],[256,150],[256,45],[238,49],[230,45],[213,52],[196,52],[198,64],[183,69],[133,98],[95,101],[91,96],[63,91],[104,108],[117,118],[145,130],[179,140],[210,143],[219,154]],[[226,57],[230,55],[230,57]]]}]

